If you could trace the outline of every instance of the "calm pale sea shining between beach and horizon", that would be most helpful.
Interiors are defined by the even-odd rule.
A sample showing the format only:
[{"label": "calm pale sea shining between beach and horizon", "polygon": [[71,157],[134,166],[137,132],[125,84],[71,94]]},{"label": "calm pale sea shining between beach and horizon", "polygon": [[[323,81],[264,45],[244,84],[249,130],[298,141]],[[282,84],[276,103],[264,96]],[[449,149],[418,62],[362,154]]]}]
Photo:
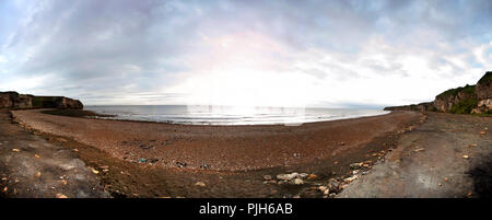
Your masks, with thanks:
[{"label": "calm pale sea shining between beach and horizon", "polygon": [[114,119],[159,121],[185,125],[300,125],[383,115],[380,109],[229,107],[202,105],[93,105],[84,109],[116,115]]}]

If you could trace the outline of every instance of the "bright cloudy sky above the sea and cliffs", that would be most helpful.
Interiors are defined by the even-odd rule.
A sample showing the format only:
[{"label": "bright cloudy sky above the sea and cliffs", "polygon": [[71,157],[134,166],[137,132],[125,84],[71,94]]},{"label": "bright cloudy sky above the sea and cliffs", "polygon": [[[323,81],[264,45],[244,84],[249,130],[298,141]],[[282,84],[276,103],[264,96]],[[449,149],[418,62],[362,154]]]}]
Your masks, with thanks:
[{"label": "bright cloudy sky above the sea and cliffs", "polygon": [[85,105],[402,105],[491,70],[490,0],[0,1],[0,91]]}]

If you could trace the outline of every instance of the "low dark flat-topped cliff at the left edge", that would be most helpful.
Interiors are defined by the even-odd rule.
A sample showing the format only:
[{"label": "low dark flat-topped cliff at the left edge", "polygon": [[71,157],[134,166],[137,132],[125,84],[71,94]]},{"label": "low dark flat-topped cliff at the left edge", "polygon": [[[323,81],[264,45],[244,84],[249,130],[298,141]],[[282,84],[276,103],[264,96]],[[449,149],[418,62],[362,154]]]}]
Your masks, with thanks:
[{"label": "low dark flat-topped cliff at the left edge", "polygon": [[0,108],[82,109],[83,105],[78,100],[63,96],[34,96],[28,94],[19,94],[17,92],[0,92]]}]

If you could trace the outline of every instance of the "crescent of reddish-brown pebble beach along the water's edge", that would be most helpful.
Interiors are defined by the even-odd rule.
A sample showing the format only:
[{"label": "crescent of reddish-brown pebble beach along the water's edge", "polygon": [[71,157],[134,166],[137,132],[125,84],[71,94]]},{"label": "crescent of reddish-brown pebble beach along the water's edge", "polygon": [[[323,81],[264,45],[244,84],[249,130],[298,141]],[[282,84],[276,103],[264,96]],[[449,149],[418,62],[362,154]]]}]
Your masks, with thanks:
[{"label": "crescent of reddish-brown pebble beach along the water's edge", "polygon": [[[24,126],[71,138],[127,161],[163,167],[248,171],[326,160],[415,123],[419,113],[391,113],[302,126],[188,126],[102,120],[15,111]],[[266,151],[268,149],[268,151]]]}]

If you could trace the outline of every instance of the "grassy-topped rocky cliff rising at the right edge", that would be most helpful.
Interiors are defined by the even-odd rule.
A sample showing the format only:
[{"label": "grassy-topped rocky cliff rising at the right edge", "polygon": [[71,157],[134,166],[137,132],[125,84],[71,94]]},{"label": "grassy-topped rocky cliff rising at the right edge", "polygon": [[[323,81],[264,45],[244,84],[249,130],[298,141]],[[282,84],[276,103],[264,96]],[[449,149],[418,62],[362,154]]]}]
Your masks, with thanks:
[{"label": "grassy-topped rocky cliff rising at the right edge", "polygon": [[385,111],[419,111],[456,114],[492,114],[492,71],[487,72],[477,85],[466,85],[438,94],[433,102],[385,107]]}]

